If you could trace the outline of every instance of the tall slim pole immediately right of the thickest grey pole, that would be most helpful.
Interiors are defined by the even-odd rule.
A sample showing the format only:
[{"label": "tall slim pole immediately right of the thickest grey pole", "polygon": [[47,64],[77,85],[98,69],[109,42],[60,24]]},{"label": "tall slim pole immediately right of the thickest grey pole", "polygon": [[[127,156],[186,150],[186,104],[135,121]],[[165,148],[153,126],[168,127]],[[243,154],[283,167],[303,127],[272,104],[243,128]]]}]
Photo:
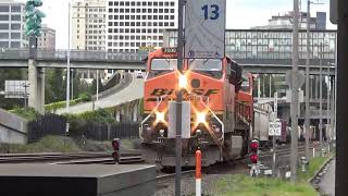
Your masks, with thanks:
[{"label": "tall slim pole immediately right of the thickest grey pole", "polygon": [[309,127],[310,127],[310,117],[309,117],[309,59],[310,59],[310,12],[311,12],[311,1],[307,1],[307,59],[306,59],[306,113],[304,113],[304,128],[306,128],[306,158],[309,160]]}]

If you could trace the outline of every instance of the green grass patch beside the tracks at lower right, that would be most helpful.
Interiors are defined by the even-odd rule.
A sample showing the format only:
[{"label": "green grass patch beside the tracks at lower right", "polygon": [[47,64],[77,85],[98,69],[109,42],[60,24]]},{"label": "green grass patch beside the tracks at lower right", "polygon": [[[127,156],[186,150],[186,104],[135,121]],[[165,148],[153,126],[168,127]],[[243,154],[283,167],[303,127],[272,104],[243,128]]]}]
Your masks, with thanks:
[{"label": "green grass patch beside the tracks at lower right", "polygon": [[315,157],[311,159],[308,172],[298,173],[298,182],[290,183],[279,179],[250,177],[248,175],[226,175],[215,183],[213,195],[219,196],[316,196],[318,193],[308,180],[314,175],[315,171],[332,156]]}]

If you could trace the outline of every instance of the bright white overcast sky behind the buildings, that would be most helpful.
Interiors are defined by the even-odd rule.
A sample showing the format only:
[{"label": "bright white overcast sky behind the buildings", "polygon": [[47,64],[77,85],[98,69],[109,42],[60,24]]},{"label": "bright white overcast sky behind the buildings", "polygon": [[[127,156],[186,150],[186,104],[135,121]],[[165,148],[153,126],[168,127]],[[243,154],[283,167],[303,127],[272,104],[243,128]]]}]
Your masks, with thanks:
[{"label": "bright white overcast sky behind the buildings", "polygon": [[[18,0],[25,2],[25,0]],[[67,4],[70,0],[42,0],[41,10],[47,14],[44,23],[57,30],[57,49],[67,48]],[[72,0],[71,0],[72,1]],[[226,28],[250,28],[266,25],[272,15],[294,9],[293,0],[226,0]],[[307,11],[307,1],[302,0],[301,10]],[[316,0],[313,0],[316,2]],[[327,13],[327,28],[336,28],[330,23],[330,0],[320,0],[324,4],[312,5],[311,14],[316,11]]]}]

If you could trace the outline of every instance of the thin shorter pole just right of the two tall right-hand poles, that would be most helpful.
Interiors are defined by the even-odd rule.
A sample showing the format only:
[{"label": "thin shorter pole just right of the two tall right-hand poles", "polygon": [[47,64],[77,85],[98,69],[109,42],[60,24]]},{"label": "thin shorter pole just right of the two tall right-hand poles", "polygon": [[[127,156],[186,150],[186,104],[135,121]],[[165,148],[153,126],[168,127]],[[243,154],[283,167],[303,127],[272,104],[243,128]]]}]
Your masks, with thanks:
[{"label": "thin shorter pole just right of the two tall right-hand poles", "polygon": [[320,156],[322,156],[323,148],[323,42],[320,44],[320,59],[319,59],[319,136],[320,136]]}]

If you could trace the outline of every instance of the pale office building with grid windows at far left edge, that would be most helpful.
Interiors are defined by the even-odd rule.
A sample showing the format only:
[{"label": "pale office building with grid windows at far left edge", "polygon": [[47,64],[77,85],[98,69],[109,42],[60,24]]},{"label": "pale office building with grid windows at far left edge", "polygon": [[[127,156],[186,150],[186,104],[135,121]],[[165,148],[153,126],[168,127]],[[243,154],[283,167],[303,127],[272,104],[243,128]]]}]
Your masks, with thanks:
[{"label": "pale office building with grid windows at far left edge", "polygon": [[0,48],[27,48],[24,32],[24,3],[12,0],[0,1]]}]

